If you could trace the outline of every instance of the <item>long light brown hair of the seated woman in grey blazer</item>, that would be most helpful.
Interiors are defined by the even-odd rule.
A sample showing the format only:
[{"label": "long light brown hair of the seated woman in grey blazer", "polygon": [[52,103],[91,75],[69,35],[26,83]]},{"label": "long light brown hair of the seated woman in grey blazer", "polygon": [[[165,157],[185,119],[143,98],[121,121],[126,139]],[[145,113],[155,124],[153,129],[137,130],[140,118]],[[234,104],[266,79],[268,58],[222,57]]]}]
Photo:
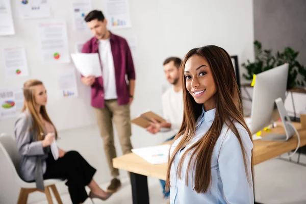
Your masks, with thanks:
[{"label": "long light brown hair of the seated woman in grey blazer", "polygon": [[[42,134],[44,134],[44,128],[43,128],[44,122],[40,119],[39,113],[47,122],[51,123],[52,125],[53,125],[53,122],[50,120],[45,106],[40,107],[39,113],[35,109],[36,103],[35,103],[35,98],[34,98],[34,94],[35,94],[34,87],[38,85],[43,85],[43,83],[38,80],[28,80],[27,82],[23,84],[24,104],[23,104],[22,112],[27,109],[29,110],[33,118],[32,127],[30,128],[36,134],[35,135],[36,140],[40,141],[43,139]],[[54,129],[55,129],[55,136],[57,138],[57,131],[56,131],[55,126],[54,126]]]}]

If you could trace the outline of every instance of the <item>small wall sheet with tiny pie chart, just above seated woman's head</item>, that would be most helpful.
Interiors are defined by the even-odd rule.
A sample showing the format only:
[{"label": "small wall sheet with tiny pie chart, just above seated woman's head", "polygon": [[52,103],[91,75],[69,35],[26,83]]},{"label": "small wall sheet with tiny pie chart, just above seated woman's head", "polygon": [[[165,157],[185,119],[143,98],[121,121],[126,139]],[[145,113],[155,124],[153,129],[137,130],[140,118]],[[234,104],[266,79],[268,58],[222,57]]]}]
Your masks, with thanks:
[{"label": "small wall sheet with tiny pie chart, just above seated woman's head", "polygon": [[4,48],[3,53],[6,78],[25,77],[29,75],[24,47]]}]

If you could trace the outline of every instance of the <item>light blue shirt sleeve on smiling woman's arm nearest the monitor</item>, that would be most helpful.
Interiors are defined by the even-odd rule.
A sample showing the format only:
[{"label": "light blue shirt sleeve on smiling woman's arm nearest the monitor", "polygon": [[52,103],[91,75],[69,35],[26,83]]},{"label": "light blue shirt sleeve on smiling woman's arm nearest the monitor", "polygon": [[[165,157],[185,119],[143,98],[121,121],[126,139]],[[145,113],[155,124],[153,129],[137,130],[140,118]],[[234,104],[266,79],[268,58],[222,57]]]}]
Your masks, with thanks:
[{"label": "light blue shirt sleeve on smiling woman's arm nearest the monitor", "polygon": [[227,203],[254,203],[251,176],[251,150],[253,145],[245,130],[238,129],[238,132],[245,149],[249,180],[245,173],[240,142],[232,131],[228,131],[221,145],[218,158],[224,197]]}]

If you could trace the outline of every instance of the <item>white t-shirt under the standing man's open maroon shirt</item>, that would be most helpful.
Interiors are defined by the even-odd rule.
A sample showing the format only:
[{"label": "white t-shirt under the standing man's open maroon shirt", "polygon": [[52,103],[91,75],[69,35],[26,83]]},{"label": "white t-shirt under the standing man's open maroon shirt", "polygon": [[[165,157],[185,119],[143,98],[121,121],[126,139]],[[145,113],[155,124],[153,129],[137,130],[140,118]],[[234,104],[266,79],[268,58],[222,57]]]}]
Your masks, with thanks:
[{"label": "white t-shirt under the standing man's open maroon shirt", "polygon": [[102,64],[104,99],[116,99],[116,78],[110,38],[99,40],[99,55]]}]

